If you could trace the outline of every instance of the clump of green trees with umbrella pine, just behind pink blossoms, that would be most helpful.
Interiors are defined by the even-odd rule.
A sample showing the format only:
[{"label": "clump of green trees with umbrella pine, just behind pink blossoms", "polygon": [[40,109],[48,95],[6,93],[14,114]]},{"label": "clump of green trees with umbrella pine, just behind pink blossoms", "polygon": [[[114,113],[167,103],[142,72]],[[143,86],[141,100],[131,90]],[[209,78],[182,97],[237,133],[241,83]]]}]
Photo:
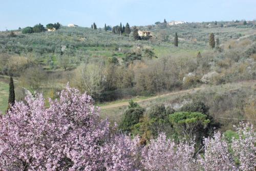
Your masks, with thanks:
[{"label": "clump of green trees with umbrella pine, just behind pink blossoms", "polygon": [[200,149],[203,138],[220,128],[220,123],[209,115],[209,107],[200,101],[188,103],[177,111],[164,104],[153,105],[145,110],[131,101],[119,127],[127,134],[140,135],[143,143],[164,132],[167,137],[176,141],[181,138],[188,141],[194,139]]}]

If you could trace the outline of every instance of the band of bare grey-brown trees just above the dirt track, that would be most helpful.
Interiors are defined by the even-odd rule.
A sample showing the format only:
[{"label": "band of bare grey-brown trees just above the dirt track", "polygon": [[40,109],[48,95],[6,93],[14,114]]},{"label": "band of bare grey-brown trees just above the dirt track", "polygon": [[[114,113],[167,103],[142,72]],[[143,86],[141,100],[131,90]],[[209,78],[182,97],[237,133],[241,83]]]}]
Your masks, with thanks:
[{"label": "band of bare grey-brown trees just above the dirt track", "polygon": [[[71,83],[74,83],[73,85],[82,91],[90,92],[90,95],[95,99],[109,101],[124,97],[129,91],[134,92],[131,95],[146,95],[196,87],[202,83],[218,85],[233,81],[252,80],[255,79],[253,63],[242,61],[252,59],[255,44],[248,42],[247,45],[247,50],[240,53],[236,52],[236,57],[233,56],[234,52],[232,50],[227,50],[225,53],[218,52],[216,58],[212,58],[214,54],[210,53],[203,54],[203,57],[200,54],[197,59],[190,60],[170,57],[152,60],[152,58],[155,58],[152,49],[144,48],[141,50],[135,48],[132,52],[124,53],[125,56],[122,58],[122,62],[119,61],[120,59],[111,57],[107,63],[102,61],[89,62],[89,64],[79,66],[74,71],[75,79]],[[223,58],[224,55],[227,58]],[[209,64],[210,62],[211,64]],[[245,69],[246,65],[247,68]],[[215,72],[209,71],[212,67],[215,68]],[[234,70],[233,67],[244,69]],[[97,69],[93,72],[94,68]],[[91,77],[91,79],[88,77]],[[90,80],[91,83],[86,83],[91,84],[90,88],[86,88],[86,85],[77,82],[77,80],[81,80],[81,82]],[[119,89],[123,90],[123,95],[117,94]],[[108,91],[111,91],[112,95]],[[106,97],[109,99],[106,99]]]}]

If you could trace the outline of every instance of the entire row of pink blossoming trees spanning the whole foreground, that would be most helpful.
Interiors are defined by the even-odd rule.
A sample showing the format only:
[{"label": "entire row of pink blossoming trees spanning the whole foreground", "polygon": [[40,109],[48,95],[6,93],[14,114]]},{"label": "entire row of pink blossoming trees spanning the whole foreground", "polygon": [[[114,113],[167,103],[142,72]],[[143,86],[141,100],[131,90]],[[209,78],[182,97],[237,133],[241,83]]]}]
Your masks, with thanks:
[{"label": "entire row of pink blossoming trees spanning the whole foreground", "polygon": [[59,100],[41,94],[16,102],[0,114],[0,170],[253,170],[256,134],[252,125],[236,127],[228,143],[220,132],[179,143],[164,133],[141,146],[139,137],[116,133],[100,119],[91,96],[67,86]]}]

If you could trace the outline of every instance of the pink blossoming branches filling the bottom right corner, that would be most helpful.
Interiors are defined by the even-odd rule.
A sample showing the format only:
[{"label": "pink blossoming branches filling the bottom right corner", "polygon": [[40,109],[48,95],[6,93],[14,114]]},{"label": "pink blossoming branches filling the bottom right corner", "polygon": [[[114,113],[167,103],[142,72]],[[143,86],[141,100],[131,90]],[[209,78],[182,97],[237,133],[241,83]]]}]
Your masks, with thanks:
[{"label": "pink blossoming branches filling the bottom right corner", "polygon": [[198,162],[203,170],[255,170],[256,132],[253,125],[240,123],[236,127],[239,138],[232,138],[228,144],[224,135],[215,132],[212,138],[204,139],[204,154]]}]

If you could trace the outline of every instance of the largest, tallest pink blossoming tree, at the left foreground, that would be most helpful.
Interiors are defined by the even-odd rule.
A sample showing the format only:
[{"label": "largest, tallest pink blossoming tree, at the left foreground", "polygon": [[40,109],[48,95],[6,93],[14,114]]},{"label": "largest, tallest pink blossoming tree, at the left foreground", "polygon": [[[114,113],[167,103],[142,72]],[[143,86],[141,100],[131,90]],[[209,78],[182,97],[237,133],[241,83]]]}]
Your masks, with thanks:
[{"label": "largest, tallest pink blossoming tree, at the left foreground", "polygon": [[0,170],[99,170],[107,120],[91,96],[67,86],[59,100],[37,95],[15,103],[0,120]]}]

